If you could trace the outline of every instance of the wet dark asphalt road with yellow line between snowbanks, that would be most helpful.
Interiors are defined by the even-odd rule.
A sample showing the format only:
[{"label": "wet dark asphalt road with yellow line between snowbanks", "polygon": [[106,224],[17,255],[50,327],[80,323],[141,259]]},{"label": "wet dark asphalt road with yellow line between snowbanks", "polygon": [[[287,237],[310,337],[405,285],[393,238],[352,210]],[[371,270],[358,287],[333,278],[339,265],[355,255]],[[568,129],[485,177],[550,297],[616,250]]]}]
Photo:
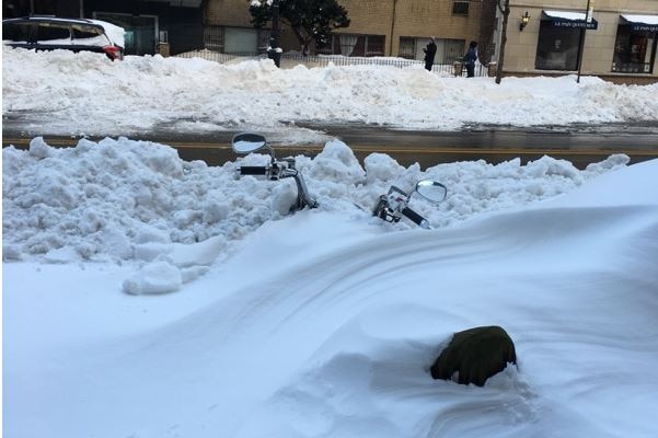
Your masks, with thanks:
[{"label": "wet dark asphalt road with yellow line between snowbanks", "polygon": [[[26,148],[34,132],[14,120],[3,120],[2,146]],[[519,128],[512,126],[469,126],[460,131],[397,130],[363,125],[297,124],[345,141],[359,160],[372,152],[393,157],[400,164],[418,162],[423,169],[443,162],[485,160],[498,163],[520,158],[523,163],[543,155],[566,159],[584,169],[613,153],[625,153],[631,162],[658,158],[658,122],[608,125],[569,125]],[[34,130],[34,129],[33,129]],[[175,147],[184,160],[204,160],[210,165],[234,160],[230,141],[235,131],[211,134],[176,132],[166,129],[131,135]],[[266,136],[268,132],[263,132]],[[105,136],[89,137],[96,140]],[[77,138],[44,135],[51,146],[74,146]],[[270,135],[276,138],[276,135]],[[323,141],[289,146],[286,139],[273,141],[277,157],[314,155]]]}]

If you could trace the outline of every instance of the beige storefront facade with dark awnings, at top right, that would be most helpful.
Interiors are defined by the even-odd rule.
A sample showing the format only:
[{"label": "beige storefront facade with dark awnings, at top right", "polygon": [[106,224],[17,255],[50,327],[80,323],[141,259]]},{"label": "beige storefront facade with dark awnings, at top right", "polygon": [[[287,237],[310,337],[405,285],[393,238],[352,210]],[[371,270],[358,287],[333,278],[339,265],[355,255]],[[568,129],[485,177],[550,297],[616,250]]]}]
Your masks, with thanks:
[{"label": "beige storefront facade with dark awnings, at top right", "polygon": [[579,3],[510,1],[505,73],[551,76],[580,68],[619,83],[657,82],[658,0],[590,0],[589,10],[587,0]]}]

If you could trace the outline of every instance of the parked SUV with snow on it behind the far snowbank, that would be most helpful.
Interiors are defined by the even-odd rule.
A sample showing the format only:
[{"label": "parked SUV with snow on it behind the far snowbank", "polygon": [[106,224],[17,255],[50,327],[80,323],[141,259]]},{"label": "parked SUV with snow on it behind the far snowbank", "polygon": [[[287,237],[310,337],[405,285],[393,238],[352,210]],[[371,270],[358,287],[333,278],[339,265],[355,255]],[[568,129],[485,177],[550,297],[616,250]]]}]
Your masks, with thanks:
[{"label": "parked SUV with snow on it behind the far snowbank", "polygon": [[2,43],[35,50],[96,51],[124,58],[124,30],[100,20],[26,16],[2,20]]}]

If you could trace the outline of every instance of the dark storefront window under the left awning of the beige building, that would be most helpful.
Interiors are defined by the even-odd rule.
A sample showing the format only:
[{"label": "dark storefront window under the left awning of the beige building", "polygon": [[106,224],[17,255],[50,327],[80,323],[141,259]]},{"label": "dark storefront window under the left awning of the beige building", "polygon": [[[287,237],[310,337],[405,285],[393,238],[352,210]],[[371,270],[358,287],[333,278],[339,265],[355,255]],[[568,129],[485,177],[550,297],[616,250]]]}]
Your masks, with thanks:
[{"label": "dark storefront window under the left awning of the beige building", "polygon": [[577,70],[579,41],[580,30],[558,27],[550,21],[542,21],[534,68],[538,70]]}]

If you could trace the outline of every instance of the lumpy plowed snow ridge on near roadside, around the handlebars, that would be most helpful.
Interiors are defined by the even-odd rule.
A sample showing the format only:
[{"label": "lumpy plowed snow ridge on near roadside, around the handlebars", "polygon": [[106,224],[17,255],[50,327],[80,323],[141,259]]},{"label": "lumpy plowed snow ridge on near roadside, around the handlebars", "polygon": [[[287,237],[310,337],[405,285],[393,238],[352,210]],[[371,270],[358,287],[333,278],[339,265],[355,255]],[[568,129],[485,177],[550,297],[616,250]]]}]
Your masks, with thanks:
[{"label": "lumpy plowed snow ridge on near roadside, around the handlebars", "polygon": [[[206,243],[219,256],[265,221],[287,215],[297,188],[292,180],[273,183],[238,177],[235,162],[208,166],[185,162],[168,146],[126,138],[80,140],[56,149],[41,137],[26,151],[5,148],[3,155],[3,254],[5,260],[38,256],[46,262],[151,262],[184,245]],[[252,154],[245,165],[268,155]],[[484,161],[440,164],[425,171],[404,168],[374,153],[361,168],[343,142],[327,142],[314,159],[297,157],[320,209],[357,216],[373,226],[370,209],[391,185],[411,191],[423,178],[449,187],[437,208],[420,197],[413,207],[432,227],[447,227],[475,215],[554,197],[584,181],[624,165],[625,155],[579,171],[567,161],[544,157],[521,165]],[[412,228],[400,222],[393,228]],[[185,258],[185,257],[183,257]],[[204,265],[215,257],[206,256]],[[198,265],[197,263],[187,263]],[[200,264],[200,263],[199,263]],[[183,261],[177,265],[185,265]]]}]

